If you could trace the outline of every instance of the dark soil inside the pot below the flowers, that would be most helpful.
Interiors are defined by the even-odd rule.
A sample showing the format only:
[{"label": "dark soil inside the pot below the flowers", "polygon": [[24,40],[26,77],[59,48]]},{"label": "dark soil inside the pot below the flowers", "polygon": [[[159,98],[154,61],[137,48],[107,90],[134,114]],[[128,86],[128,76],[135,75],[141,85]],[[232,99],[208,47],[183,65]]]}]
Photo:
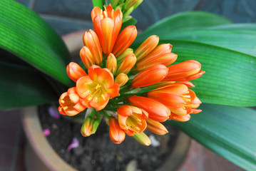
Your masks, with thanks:
[{"label": "dark soil inside the pot below the flowers", "polygon": [[[138,163],[138,170],[156,170],[165,162],[178,135],[178,130],[166,125],[169,133],[166,135],[152,134],[160,142],[159,146],[140,145],[135,139],[126,135],[120,145],[114,144],[109,138],[108,125],[102,120],[96,134],[84,138],[81,133],[81,124],[71,123],[65,118],[56,120],[48,114],[48,105],[39,108],[39,118],[43,130],[48,128],[51,134],[48,141],[63,160],[77,170],[130,170]],[[145,132],[150,135],[149,132]],[[77,138],[79,146],[71,151],[67,150],[73,138]],[[128,166],[129,165],[129,166]]]}]

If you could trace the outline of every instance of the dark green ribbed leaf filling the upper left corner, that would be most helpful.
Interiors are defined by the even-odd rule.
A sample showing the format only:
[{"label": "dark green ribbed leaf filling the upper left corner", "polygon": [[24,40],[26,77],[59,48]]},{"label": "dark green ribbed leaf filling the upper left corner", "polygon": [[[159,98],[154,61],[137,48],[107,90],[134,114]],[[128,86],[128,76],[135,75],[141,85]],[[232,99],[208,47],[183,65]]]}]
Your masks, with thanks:
[{"label": "dark green ribbed leaf filling the upper left corner", "polygon": [[39,15],[13,0],[0,1],[0,48],[63,84],[70,60],[61,37]]}]

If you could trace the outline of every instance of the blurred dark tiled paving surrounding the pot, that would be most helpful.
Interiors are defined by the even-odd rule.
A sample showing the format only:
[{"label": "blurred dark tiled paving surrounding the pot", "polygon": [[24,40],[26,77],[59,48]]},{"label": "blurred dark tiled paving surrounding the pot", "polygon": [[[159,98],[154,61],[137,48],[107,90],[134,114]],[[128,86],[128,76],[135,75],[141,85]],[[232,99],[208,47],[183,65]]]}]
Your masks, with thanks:
[{"label": "blurred dark tiled paving surrounding the pot", "polygon": [[[32,9],[60,35],[93,28],[91,0],[16,0]],[[181,11],[208,11],[235,23],[255,23],[255,0],[144,0],[132,16],[143,30],[165,16]],[[26,138],[21,128],[19,110],[0,111],[0,171],[24,171]],[[242,170],[193,140],[179,171]]]}]

